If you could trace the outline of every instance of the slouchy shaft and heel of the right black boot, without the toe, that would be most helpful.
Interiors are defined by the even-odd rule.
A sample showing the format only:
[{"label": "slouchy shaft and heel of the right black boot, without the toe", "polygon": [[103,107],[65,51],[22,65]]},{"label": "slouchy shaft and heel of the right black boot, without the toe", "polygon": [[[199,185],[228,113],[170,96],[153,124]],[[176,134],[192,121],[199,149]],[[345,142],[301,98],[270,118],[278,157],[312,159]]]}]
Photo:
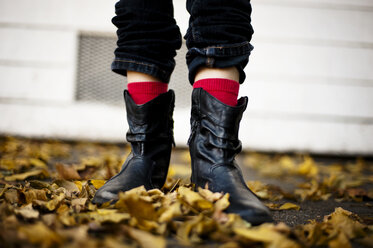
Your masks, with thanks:
[{"label": "slouchy shaft and heel of the right black boot, without the toe", "polygon": [[205,90],[198,88],[192,93],[192,131],[189,150],[192,158],[192,179],[197,186],[209,183],[210,170],[214,165],[231,166],[241,151],[238,131],[247,97],[239,99],[238,106],[228,106]]}]

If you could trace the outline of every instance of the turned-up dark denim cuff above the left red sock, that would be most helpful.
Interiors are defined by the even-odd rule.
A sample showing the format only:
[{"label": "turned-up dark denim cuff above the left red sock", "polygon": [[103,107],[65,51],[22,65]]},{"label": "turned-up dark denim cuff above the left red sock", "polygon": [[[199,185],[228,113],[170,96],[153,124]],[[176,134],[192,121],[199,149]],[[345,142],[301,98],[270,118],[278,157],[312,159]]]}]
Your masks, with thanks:
[{"label": "turned-up dark denim cuff above the left red sock", "polygon": [[140,62],[133,59],[115,58],[111,63],[111,70],[120,75],[127,76],[127,71],[136,71],[148,74],[159,79],[163,83],[169,83],[172,72],[167,72],[157,65]]}]

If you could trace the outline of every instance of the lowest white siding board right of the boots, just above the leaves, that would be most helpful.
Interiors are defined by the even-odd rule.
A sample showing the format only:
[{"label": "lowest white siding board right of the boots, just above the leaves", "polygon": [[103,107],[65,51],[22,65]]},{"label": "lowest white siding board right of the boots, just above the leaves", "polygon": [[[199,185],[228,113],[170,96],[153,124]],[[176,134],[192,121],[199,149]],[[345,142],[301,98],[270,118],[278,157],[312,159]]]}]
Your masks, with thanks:
[{"label": "lowest white siding board right of the boots, just above the leaves", "polygon": [[373,154],[373,125],[246,117],[240,137],[248,149]]}]

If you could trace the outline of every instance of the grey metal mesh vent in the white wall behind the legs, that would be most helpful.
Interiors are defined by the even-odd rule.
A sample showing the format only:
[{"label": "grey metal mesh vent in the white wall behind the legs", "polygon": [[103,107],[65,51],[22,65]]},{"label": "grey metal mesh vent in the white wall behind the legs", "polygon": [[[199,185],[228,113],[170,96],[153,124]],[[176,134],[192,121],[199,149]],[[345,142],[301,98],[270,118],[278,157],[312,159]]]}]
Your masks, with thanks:
[{"label": "grey metal mesh vent in the white wall behind the legs", "polygon": [[[77,101],[123,105],[126,78],[110,70],[115,48],[115,35],[80,35]],[[190,107],[192,87],[188,82],[185,54],[186,47],[183,45],[175,58],[176,68],[169,85],[175,90],[176,108]]]}]

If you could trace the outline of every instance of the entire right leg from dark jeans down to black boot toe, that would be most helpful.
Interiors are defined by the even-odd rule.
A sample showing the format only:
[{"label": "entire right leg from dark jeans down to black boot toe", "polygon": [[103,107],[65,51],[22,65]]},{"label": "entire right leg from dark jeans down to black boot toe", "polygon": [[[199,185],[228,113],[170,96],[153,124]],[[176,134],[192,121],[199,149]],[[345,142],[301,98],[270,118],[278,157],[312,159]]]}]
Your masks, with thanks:
[{"label": "entire right leg from dark jeans down to black boot toe", "polygon": [[238,131],[247,97],[237,101],[239,83],[252,50],[249,0],[188,0],[189,81],[193,85],[191,181],[196,187],[229,193],[227,212],[257,225],[271,221],[268,209],[247,187],[235,162]]}]

